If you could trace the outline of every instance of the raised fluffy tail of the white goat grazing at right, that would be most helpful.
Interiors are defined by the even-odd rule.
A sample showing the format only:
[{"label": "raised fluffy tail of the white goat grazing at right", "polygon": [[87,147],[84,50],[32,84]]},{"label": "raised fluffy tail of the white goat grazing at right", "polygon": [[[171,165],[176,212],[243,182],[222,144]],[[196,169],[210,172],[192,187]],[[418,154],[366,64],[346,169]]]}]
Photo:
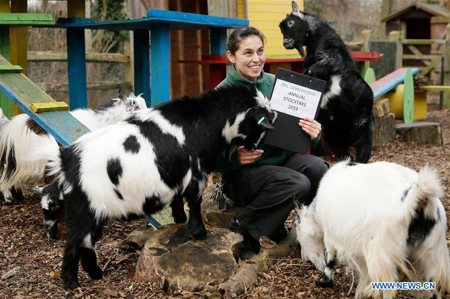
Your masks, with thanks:
[{"label": "raised fluffy tail of the white goat grazing at right", "polygon": [[437,172],[425,165],[418,173],[417,181],[407,192],[404,202],[413,217],[416,211],[423,209],[427,218],[437,220],[435,198],[443,196],[442,185]]}]

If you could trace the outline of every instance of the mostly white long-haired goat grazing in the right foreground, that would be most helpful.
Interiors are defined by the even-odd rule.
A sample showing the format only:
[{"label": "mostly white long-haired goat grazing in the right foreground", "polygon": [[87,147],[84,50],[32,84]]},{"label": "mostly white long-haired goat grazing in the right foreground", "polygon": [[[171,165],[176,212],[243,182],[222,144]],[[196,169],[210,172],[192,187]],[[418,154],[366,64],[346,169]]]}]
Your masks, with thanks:
[{"label": "mostly white long-haired goat grazing in the right foreground", "polygon": [[[450,258],[439,177],[398,164],[339,162],[323,176],[309,206],[295,221],[301,258],[323,272],[319,287],[333,284],[337,259],[359,274],[356,298],[394,298],[371,282],[434,282],[435,290],[412,294],[440,298],[450,291]],[[325,252],[323,250],[325,249]]]}]

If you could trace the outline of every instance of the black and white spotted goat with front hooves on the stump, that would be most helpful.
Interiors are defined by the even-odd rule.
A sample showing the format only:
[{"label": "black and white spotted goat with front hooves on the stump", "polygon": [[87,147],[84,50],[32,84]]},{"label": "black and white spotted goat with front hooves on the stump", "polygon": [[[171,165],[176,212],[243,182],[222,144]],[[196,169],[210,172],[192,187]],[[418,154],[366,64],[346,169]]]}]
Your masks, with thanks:
[{"label": "black and white spotted goat with front hooves on the stump", "polygon": [[40,147],[36,154],[49,161],[63,193],[64,287],[78,287],[79,259],[92,279],[102,277],[94,244],[108,219],[150,215],[179,199],[182,206],[186,197],[187,232],[206,238],[200,203],[207,174],[231,142],[256,148],[275,117],[253,87],[224,87],[137,111],[60,150]]}]

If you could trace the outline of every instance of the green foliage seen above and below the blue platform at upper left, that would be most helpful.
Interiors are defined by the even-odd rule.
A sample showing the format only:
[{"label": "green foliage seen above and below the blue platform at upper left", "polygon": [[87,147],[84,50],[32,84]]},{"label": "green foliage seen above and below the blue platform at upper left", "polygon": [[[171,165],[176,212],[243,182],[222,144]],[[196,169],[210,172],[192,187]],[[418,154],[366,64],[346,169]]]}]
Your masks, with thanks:
[{"label": "green foliage seen above and below the blue platform at upper left", "polygon": [[[123,5],[126,0],[93,0],[91,17],[94,21],[123,20],[126,14]],[[127,30],[93,30],[93,48],[98,52],[119,52],[123,41],[128,40]]]}]

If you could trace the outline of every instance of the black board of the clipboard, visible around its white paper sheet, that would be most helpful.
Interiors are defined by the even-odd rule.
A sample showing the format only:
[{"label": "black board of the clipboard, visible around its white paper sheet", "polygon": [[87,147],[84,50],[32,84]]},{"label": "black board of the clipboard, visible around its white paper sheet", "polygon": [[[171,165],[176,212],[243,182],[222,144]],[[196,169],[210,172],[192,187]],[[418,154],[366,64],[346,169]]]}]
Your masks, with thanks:
[{"label": "black board of the clipboard, visible around its white paper sheet", "polygon": [[[272,91],[270,92],[270,99],[272,98],[273,89],[275,88],[277,79],[307,87],[321,93],[314,115],[314,119],[316,119],[320,103],[322,102],[323,92],[325,91],[326,81],[299,74],[288,69],[278,68],[276,70]],[[277,111],[277,114],[278,116],[272,124],[274,129],[267,130],[264,143],[295,153],[306,154],[311,142],[311,137],[298,125],[299,117],[279,111]]]}]

